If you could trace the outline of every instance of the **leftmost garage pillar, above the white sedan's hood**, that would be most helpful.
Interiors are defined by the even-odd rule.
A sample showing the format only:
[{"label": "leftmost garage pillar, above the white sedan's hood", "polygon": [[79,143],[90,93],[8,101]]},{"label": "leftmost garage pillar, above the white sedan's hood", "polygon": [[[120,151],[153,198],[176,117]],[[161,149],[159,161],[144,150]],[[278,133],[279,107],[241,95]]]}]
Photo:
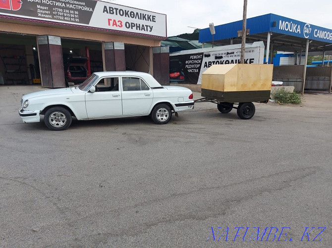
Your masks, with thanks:
[{"label": "leftmost garage pillar, above the white sedan's hood", "polygon": [[65,87],[61,38],[38,36],[37,43],[42,86],[47,88]]}]

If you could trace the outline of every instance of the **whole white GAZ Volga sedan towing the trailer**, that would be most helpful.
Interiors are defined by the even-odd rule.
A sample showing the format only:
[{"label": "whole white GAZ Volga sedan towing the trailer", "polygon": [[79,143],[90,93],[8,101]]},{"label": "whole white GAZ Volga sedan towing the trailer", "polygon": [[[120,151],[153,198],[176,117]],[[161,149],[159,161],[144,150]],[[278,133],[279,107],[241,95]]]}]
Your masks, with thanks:
[{"label": "whole white GAZ Volga sedan towing the trailer", "polygon": [[23,123],[44,122],[51,130],[65,130],[77,120],[151,115],[166,124],[172,113],[194,108],[190,89],[162,86],[141,72],[97,72],[75,87],[26,94],[19,115]]}]

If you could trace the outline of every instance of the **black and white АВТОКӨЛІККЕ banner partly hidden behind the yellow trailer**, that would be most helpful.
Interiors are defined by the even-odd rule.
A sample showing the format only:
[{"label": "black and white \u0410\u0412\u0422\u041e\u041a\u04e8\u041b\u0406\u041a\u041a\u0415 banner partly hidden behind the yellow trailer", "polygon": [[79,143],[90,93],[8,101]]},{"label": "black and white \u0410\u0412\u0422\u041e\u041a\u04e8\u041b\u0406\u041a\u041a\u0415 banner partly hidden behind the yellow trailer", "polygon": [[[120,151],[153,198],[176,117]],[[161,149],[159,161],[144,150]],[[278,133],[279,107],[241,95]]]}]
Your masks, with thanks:
[{"label": "black and white \u0410\u0412\u0422\u041e\u041a\u04e8\u041b\u0406\u041a\u041a\u0415 banner partly hidden behind the yellow trailer", "polygon": [[[169,54],[169,80],[201,84],[202,73],[212,65],[240,62],[241,44],[186,50]],[[244,63],[263,64],[264,43],[246,44]],[[176,77],[178,76],[178,77]]]}]

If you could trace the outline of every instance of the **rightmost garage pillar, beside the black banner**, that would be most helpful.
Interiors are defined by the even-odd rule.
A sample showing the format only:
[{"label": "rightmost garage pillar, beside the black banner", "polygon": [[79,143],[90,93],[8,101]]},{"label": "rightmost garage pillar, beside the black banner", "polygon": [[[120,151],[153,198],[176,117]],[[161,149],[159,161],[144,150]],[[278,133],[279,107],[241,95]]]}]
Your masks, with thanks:
[{"label": "rightmost garage pillar, beside the black banner", "polygon": [[169,85],[169,47],[152,48],[153,77],[162,85]]}]

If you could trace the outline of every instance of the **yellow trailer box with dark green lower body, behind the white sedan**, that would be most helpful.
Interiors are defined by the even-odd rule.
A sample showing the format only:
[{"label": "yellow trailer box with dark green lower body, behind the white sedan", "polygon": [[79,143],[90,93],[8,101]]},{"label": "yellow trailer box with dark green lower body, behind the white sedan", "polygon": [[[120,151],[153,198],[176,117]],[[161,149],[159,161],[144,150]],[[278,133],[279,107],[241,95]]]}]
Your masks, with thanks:
[{"label": "yellow trailer box with dark green lower body, behind the white sedan", "polygon": [[263,102],[270,99],[273,65],[213,65],[202,74],[202,96],[218,102]]}]

